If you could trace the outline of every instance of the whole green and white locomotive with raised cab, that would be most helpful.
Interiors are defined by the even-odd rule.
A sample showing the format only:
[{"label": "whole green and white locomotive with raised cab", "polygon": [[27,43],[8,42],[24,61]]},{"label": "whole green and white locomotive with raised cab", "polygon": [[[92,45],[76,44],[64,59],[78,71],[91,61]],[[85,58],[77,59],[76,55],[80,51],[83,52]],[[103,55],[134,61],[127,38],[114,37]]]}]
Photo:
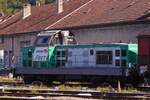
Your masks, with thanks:
[{"label": "whole green and white locomotive with raised cab", "polygon": [[125,79],[137,64],[137,44],[77,44],[68,31],[48,31],[21,50],[15,75],[33,80]]}]

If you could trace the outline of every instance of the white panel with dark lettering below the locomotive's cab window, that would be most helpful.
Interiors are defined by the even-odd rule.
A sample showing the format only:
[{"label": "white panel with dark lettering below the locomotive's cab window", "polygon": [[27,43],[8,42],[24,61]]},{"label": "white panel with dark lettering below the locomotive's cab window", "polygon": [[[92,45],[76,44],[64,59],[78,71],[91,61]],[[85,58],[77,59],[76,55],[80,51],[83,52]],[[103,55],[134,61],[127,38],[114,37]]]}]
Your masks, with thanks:
[{"label": "white panel with dark lettering below the locomotive's cab window", "polygon": [[33,54],[33,61],[46,61],[48,56],[48,48],[47,47],[38,47],[35,48]]}]

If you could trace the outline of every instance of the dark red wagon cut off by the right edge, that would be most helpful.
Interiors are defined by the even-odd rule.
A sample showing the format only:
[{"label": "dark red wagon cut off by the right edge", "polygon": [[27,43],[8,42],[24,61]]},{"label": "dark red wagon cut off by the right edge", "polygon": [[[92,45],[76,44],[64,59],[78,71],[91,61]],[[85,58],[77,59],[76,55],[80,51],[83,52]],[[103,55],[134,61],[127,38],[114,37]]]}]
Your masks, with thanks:
[{"label": "dark red wagon cut off by the right edge", "polygon": [[150,35],[138,36],[138,51],[140,74],[150,79]]}]

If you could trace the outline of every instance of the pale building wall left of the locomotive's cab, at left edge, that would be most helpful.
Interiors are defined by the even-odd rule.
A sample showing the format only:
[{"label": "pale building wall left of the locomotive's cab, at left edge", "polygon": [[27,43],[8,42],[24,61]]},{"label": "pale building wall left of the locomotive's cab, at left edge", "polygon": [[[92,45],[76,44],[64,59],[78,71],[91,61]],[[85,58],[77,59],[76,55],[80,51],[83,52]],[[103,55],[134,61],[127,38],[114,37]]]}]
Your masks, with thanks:
[{"label": "pale building wall left of the locomotive's cab, at left edge", "polygon": [[33,46],[36,35],[26,33],[22,35],[3,36],[2,38],[2,42],[0,43],[1,65],[15,67],[15,64],[21,60],[21,48]]}]

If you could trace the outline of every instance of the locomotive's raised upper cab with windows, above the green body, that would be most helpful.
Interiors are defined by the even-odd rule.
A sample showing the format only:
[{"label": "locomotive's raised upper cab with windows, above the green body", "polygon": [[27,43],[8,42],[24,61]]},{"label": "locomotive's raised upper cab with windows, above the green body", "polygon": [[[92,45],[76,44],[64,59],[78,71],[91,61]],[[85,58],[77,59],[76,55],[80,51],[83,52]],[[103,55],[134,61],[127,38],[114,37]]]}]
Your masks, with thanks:
[{"label": "locomotive's raised upper cab with windows, above the green body", "polygon": [[68,45],[76,44],[74,35],[69,31],[44,31],[37,35],[34,43],[35,47],[38,46],[55,46],[55,45]]}]

